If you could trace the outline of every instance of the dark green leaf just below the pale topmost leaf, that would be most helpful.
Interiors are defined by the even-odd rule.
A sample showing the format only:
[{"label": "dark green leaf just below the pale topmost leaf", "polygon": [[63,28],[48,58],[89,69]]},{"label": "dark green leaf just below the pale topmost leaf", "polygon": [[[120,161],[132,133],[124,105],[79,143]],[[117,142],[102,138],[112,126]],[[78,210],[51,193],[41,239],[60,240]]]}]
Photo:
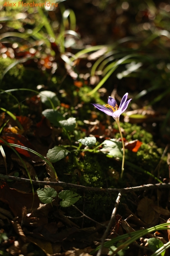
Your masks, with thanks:
[{"label": "dark green leaf just below the pale topmost leaf", "polygon": [[62,114],[54,109],[45,109],[42,111],[42,115],[45,116],[55,126],[59,126],[59,121],[64,120]]}]

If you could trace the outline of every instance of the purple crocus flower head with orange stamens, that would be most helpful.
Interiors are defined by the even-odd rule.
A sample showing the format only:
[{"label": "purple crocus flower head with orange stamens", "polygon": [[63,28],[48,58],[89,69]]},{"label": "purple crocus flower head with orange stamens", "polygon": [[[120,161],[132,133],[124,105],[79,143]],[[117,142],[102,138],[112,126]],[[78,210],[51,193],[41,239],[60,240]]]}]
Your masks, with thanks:
[{"label": "purple crocus flower head with orange stamens", "polygon": [[104,106],[100,104],[93,104],[96,108],[103,111],[105,114],[112,116],[116,122],[119,122],[120,115],[127,109],[127,106],[129,105],[129,102],[131,99],[127,101],[127,95],[128,93],[125,93],[123,96],[120,106],[118,107],[117,102],[115,99],[113,99],[111,96],[109,96],[108,104]]}]

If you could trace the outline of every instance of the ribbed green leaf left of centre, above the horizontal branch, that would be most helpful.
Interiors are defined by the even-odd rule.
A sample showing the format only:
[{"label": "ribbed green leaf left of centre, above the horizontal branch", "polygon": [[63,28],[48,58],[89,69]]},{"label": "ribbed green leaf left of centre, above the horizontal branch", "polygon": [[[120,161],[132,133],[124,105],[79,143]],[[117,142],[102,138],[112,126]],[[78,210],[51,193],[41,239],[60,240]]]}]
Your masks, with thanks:
[{"label": "ribbed green leaf left of centre, above the horizontal branch", "polygon": [[51,161],[51,163],[56,163],[62,158],[66,157],[70,153],[67,149],[62,146],[55,146],[48,150],[47,157]]}]

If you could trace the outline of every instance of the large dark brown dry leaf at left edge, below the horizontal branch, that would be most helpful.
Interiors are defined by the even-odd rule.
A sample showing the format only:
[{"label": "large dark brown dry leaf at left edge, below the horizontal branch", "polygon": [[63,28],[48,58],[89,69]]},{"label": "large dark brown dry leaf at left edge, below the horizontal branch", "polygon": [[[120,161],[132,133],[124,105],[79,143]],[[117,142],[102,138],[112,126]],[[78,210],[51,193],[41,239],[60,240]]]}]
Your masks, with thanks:
[{"label": "large dark brown dry leaf at left edge, below the horizontal branch", "polygon": [[[27,209],[31,209],[33,203],[33,194],[19,192],[16,189],[9,188],[8,184],[5,182],[0,182],[0,200],[6,204],[9,204],[11,211],[14,213],[15,217],[22,216],[22,208],[24,206]],[[34,194],[33,208],[38,208],[40,200],[37,194]]]}]

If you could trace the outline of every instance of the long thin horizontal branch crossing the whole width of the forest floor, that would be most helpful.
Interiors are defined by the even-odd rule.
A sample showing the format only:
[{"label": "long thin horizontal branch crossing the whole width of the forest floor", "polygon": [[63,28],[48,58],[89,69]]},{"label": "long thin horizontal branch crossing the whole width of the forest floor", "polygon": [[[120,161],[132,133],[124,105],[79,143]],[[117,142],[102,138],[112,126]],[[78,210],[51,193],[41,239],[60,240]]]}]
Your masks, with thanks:
[{"label": "long thin horizontal branch crossing the whole width of the forest floor", "polygon": [[[20,177],[14,177],[9,175],[3,175],[0,174],[0,178],[3,179],[9,179],[9,180],[17,180],[17,181],[23,181],[23,182],[31,182],[29,179],[20,178]],[[98,191],[98,192],[132,192],[132,191],[142,191],[145,189],[166,189],[170,188],[170,183],[157,183],[157,184],[147,184],[147,185],[141,185],[136,187],[130,187],[130,188],[123,188],[123,189],[105,189],[105,188],[93,188],[88,186],[81,186],[77,184],[72,183],[66,183],[62,181],[57,182],[48,182],[48,181],[39,181],[39,180],[32,180],[32,183],[34,185],[51,185],[51,186],[62,186],[62,187],[69,187],[74,189],[82,189],[84,191]]]}]

